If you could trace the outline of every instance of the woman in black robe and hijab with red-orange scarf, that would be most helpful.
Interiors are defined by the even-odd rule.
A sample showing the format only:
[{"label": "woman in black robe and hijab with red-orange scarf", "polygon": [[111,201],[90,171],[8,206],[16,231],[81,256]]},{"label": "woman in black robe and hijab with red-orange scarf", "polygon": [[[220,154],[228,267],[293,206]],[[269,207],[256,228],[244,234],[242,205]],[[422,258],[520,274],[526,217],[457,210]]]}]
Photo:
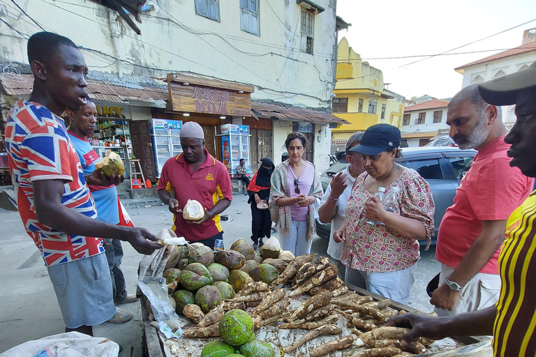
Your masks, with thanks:
[{"label": "woman in black robe and hijab with red-orange scarf", "polygon": [[[274,162],[269,158],[260,160],[260,167],[248,185],[248,204],[251,204],[251,240],[253,248],[262,246],[262,238],[270,237],[271,217],[268,209],[270,197],[270,177],[274,172]],[[265,207],[265,208],[264,208]]]}]

